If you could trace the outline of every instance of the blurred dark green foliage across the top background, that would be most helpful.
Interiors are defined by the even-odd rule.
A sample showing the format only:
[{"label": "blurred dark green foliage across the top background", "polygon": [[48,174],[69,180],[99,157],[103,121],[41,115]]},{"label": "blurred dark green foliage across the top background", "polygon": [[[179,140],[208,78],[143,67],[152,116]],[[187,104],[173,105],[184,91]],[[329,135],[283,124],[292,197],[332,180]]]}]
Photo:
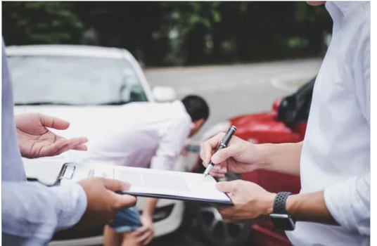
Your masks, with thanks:
[{"label": "blurred dark green foliage across the top background", "polygon": [[127,48],[145,65],[322,56],[331,18],[302,1],[3,1],[7,45]]}]

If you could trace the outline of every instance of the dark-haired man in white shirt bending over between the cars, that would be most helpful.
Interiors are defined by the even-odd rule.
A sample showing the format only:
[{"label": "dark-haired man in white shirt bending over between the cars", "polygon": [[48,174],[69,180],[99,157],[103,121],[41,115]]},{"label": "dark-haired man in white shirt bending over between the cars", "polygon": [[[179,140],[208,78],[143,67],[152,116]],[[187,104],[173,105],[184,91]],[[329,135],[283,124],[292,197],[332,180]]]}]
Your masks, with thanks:
[{"label": "dark-haired man in white shirt bending over between the cars", "polygon": [[[85,162],[106,162],[129,167],[174,169],[186,138],[203,126],[210,110],[199,96],[186,96],[173,103],[129,103],[117,114],[97,115],[111,127],[102,136],[89,138]],[[98,121],[101,121],[98,119]],[[104,122],[104,121],[103,121]],[[79,122],[77,122],[79,124]],[[93,123],[92,123],[93,124]],[[73,124],[72,124],[73,126]],[[153,239],[153,212],[157,199],[150,198],[140,217],[137,209],[118,212],[106,226],[105,245],[146,245]]]}]

